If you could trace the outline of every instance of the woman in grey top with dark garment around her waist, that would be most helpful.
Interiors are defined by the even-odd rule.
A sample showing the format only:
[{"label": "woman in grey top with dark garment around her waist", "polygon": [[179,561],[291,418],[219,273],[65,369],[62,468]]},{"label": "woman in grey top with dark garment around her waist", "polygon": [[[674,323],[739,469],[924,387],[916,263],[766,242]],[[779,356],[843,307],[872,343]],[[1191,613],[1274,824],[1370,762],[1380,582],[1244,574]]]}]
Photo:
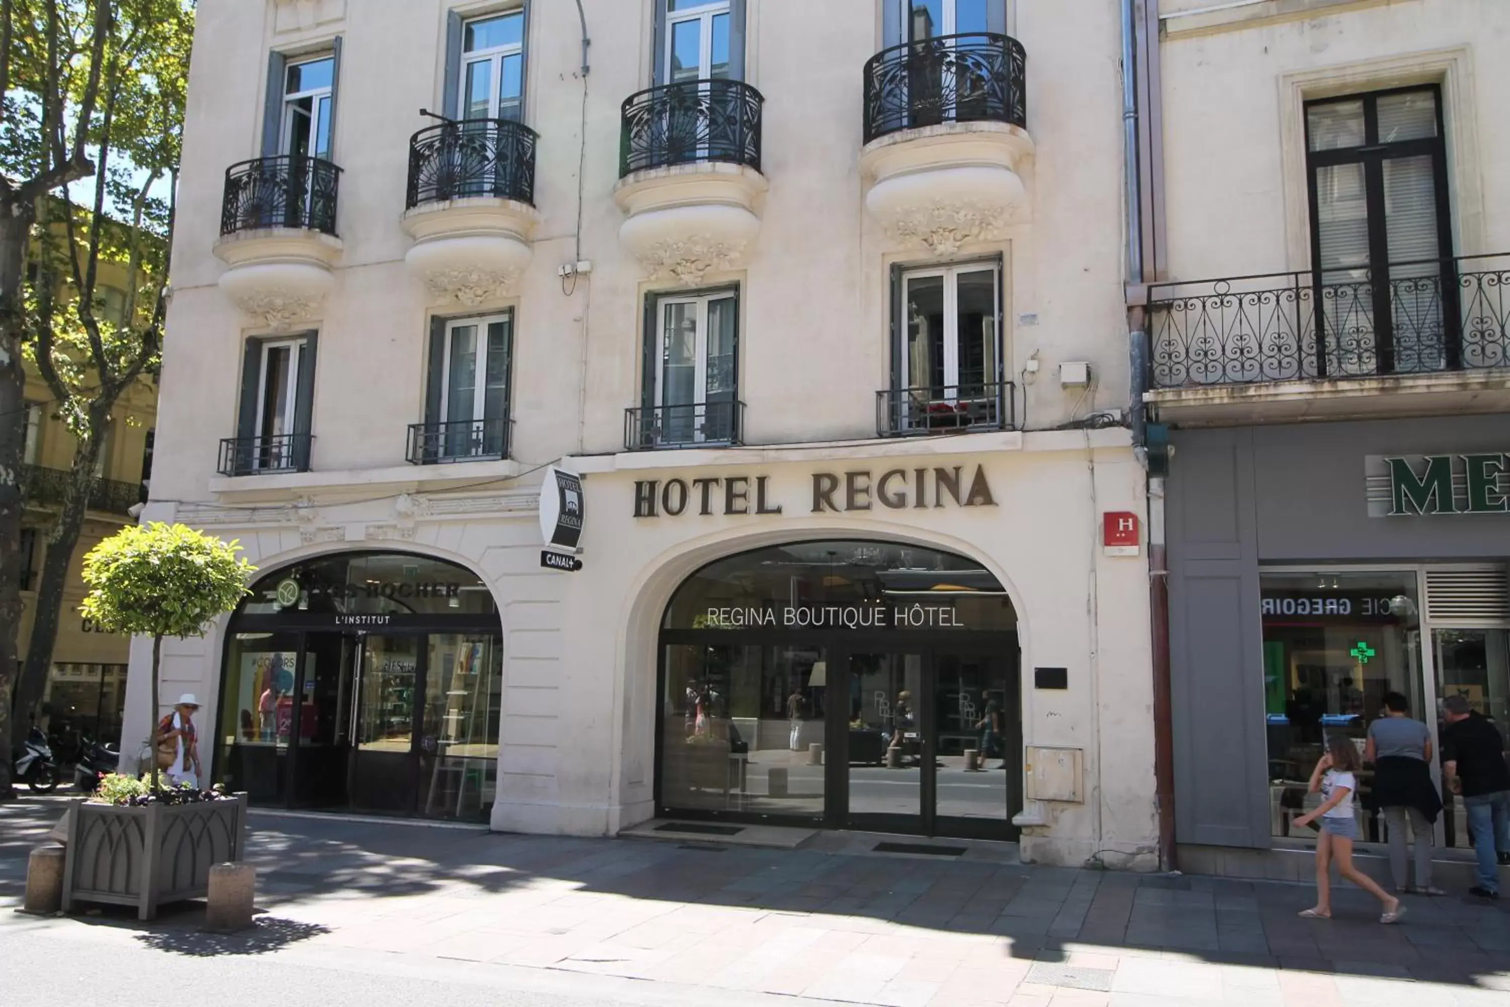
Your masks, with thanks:
[{"label": "woman in grey top with dark garment around her waist", "polygon": [[[1389,827],[1389,874],[1397,892],[1445,895],[1431,888],[1431,829],[1442,796],[1431,782],[1431,731],[1410,717],[1401,693],[1385,694],[1385,716],[1368,725],[1364,761],[1374,764],[1374,800]],[[1415,836],[1407,850],[1406,823]],[[1415,853],[1415,885],[1407,885],[1409,853]]]}]

